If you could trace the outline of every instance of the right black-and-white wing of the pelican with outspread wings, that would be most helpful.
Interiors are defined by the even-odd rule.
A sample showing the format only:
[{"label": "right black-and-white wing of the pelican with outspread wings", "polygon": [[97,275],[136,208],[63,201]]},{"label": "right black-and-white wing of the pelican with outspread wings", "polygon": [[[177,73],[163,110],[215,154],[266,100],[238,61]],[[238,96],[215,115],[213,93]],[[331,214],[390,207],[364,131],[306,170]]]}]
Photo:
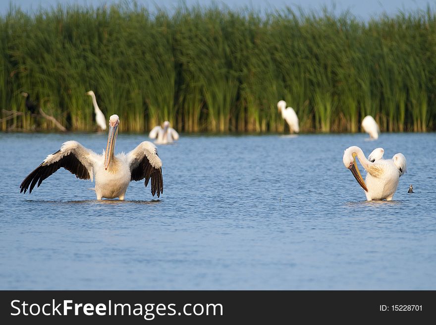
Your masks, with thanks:
[{"label": "right black-and-white wing of the pelican with outspread wings", "polygon": [[156,145],[150,141],[141,142],[127,154],[127,163],[130,165],[131,180],[145,179],[144,184],[147,187],[151,179],[152,195],[158,193],[160,197],[163,193],[162,160],[158,156]]}]

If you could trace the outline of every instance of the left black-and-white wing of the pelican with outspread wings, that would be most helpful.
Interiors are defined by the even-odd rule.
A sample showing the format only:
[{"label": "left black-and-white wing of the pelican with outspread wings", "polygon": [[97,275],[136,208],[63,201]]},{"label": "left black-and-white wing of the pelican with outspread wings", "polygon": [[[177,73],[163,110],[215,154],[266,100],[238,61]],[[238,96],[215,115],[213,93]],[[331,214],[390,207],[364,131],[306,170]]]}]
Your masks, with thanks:
[{"label": "left black-and-white wing of the pelican with outspread wings", "polygon": [[81,180],[93,180],[93,166],[98,155],[85,148],[77,141],[66,141],[54,154],[48,155],[46,159],[33,172],[31,172],[21,183],[20,188],[24,193],[29,188],[29,193],[38,183],[41,183],[53,175],[60,167],[65,168],[71,174]]}]

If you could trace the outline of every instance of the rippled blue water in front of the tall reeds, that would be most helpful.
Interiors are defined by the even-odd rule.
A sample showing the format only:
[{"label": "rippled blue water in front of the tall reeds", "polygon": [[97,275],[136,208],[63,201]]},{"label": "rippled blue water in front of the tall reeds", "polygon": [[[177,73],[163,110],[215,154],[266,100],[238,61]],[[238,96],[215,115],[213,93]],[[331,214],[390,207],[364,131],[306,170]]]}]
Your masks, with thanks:
[{"label": "rippled blue water in front of the tall reeds", "polygon": [[[62,142],[106,134],[0,134],[0,289],[436,289],[436,135],[366,137],[182,135],[158,146],[161,198],[132,182],[122,202],[63,169],[19,192]],[[394,201],[365,201],[350,145],[406,156]]]}]

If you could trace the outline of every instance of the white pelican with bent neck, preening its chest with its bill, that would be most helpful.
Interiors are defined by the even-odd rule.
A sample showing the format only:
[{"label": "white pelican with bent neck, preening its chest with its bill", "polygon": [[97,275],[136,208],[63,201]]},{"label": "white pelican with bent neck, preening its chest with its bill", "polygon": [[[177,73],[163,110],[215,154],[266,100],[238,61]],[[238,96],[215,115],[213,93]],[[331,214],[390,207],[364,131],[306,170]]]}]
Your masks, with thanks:
[{"label": "white pelican with bent neck, preening its chest with its bill", "polygon": [[[357,167],[356,156],[368,173],[365,182]],[[344,151],[342,161],[357,183],[365,190],[368,201],[392,200],[399,178],[406,172],[406,157],[402,153],[395,154],[392,159],[379,159],[371,162],[365,158],[361,148],[351,146]]]}]

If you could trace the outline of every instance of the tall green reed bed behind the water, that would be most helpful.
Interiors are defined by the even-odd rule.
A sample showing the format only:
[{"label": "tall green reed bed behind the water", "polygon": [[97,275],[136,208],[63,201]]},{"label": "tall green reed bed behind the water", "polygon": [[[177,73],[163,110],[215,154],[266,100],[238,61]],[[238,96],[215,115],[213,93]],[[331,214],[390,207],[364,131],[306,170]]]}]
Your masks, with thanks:
[{"label": "tall green reed bed behind the water", "polygon": [[430,7],[368,22],[326,8],[11,7],[0,16],[0,108],[25,114],[0,130],[54,129],[21,92],[67,129],[94,130],[93,90],[108,119],[137,133],[164,120],[181,132],[287,132],[280,99],[302,132],[359,132],[365,115],[382,131],[432,131],[435,35]]}]

